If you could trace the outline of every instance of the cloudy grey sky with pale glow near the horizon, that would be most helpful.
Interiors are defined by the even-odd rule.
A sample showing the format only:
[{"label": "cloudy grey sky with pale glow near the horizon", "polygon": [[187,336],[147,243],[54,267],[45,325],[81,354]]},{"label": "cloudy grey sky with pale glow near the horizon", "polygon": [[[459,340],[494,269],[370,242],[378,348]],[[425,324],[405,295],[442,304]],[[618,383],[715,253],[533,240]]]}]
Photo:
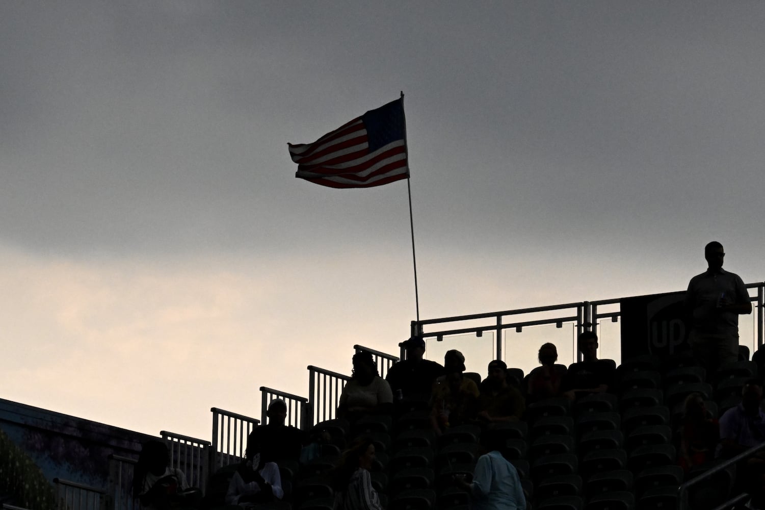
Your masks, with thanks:
[{"label": "cloudy grey sky with pale glow near the horizon", "polygon": [[286,144],[400,90],[422,319],[684,289],[712,239],[762,281],[763,21],[763,2],[2,2],[0,396],[207,438],[210,407],[257,417],[261,385],[306,394],[306,365],[396,352],[405,183],[299,181]]}]

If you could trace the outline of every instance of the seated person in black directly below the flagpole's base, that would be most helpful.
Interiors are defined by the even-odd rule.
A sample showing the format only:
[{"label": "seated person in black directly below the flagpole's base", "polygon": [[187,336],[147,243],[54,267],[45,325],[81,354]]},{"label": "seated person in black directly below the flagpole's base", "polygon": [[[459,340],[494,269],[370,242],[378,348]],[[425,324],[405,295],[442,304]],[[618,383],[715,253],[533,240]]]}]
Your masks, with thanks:
[{"label": "seated person in black directly below the flagpole's base", "polygon": [[413,336],[403,345],[406,359],[390,368],[386,381],[393,394],[401,391],[403,398],[429,400],[433,383],[444,374],[444,367],[422,358],[425,355],[425,340],[422,337]]}]

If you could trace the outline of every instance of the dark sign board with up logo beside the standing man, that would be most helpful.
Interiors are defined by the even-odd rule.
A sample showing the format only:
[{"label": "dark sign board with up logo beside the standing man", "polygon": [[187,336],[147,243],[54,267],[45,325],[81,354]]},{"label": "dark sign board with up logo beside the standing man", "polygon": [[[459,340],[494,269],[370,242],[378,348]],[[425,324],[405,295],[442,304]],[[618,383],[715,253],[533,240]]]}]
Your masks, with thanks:
[{"label": "dark sign board with up logo beside the standing man", "polygon": [[686,348],[685,292],[623,298],[621,358],[668,356]]}]

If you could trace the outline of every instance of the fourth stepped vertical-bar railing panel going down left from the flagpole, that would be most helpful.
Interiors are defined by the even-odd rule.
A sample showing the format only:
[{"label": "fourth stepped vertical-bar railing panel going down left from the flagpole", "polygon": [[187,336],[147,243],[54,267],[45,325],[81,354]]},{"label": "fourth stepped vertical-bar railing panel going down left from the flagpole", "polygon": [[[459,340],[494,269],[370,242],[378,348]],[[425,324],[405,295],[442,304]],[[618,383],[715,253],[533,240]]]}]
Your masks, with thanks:
[{"label": "fourth stepped vertical-bar railing panel going down left from the flagpole", "polygon": [[207,466],[210,466],[210,473],[213,473],[222,466],[244,459],[247,436],[260,420],[217,407],[212,407],[210,411],[213,413],[213,443]]}]

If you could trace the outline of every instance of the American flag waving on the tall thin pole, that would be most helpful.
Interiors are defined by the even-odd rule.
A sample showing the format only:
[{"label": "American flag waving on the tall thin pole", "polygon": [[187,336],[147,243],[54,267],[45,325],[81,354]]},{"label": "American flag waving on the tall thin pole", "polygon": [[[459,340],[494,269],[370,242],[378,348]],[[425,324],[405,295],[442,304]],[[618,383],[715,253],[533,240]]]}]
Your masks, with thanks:
[{"label": "American flag waving on the tall thin pole", "polygon": [[288,144],[295,177],[330,188],[370,188],[409,178],[404,98],[340,126],[313,143]]}]

